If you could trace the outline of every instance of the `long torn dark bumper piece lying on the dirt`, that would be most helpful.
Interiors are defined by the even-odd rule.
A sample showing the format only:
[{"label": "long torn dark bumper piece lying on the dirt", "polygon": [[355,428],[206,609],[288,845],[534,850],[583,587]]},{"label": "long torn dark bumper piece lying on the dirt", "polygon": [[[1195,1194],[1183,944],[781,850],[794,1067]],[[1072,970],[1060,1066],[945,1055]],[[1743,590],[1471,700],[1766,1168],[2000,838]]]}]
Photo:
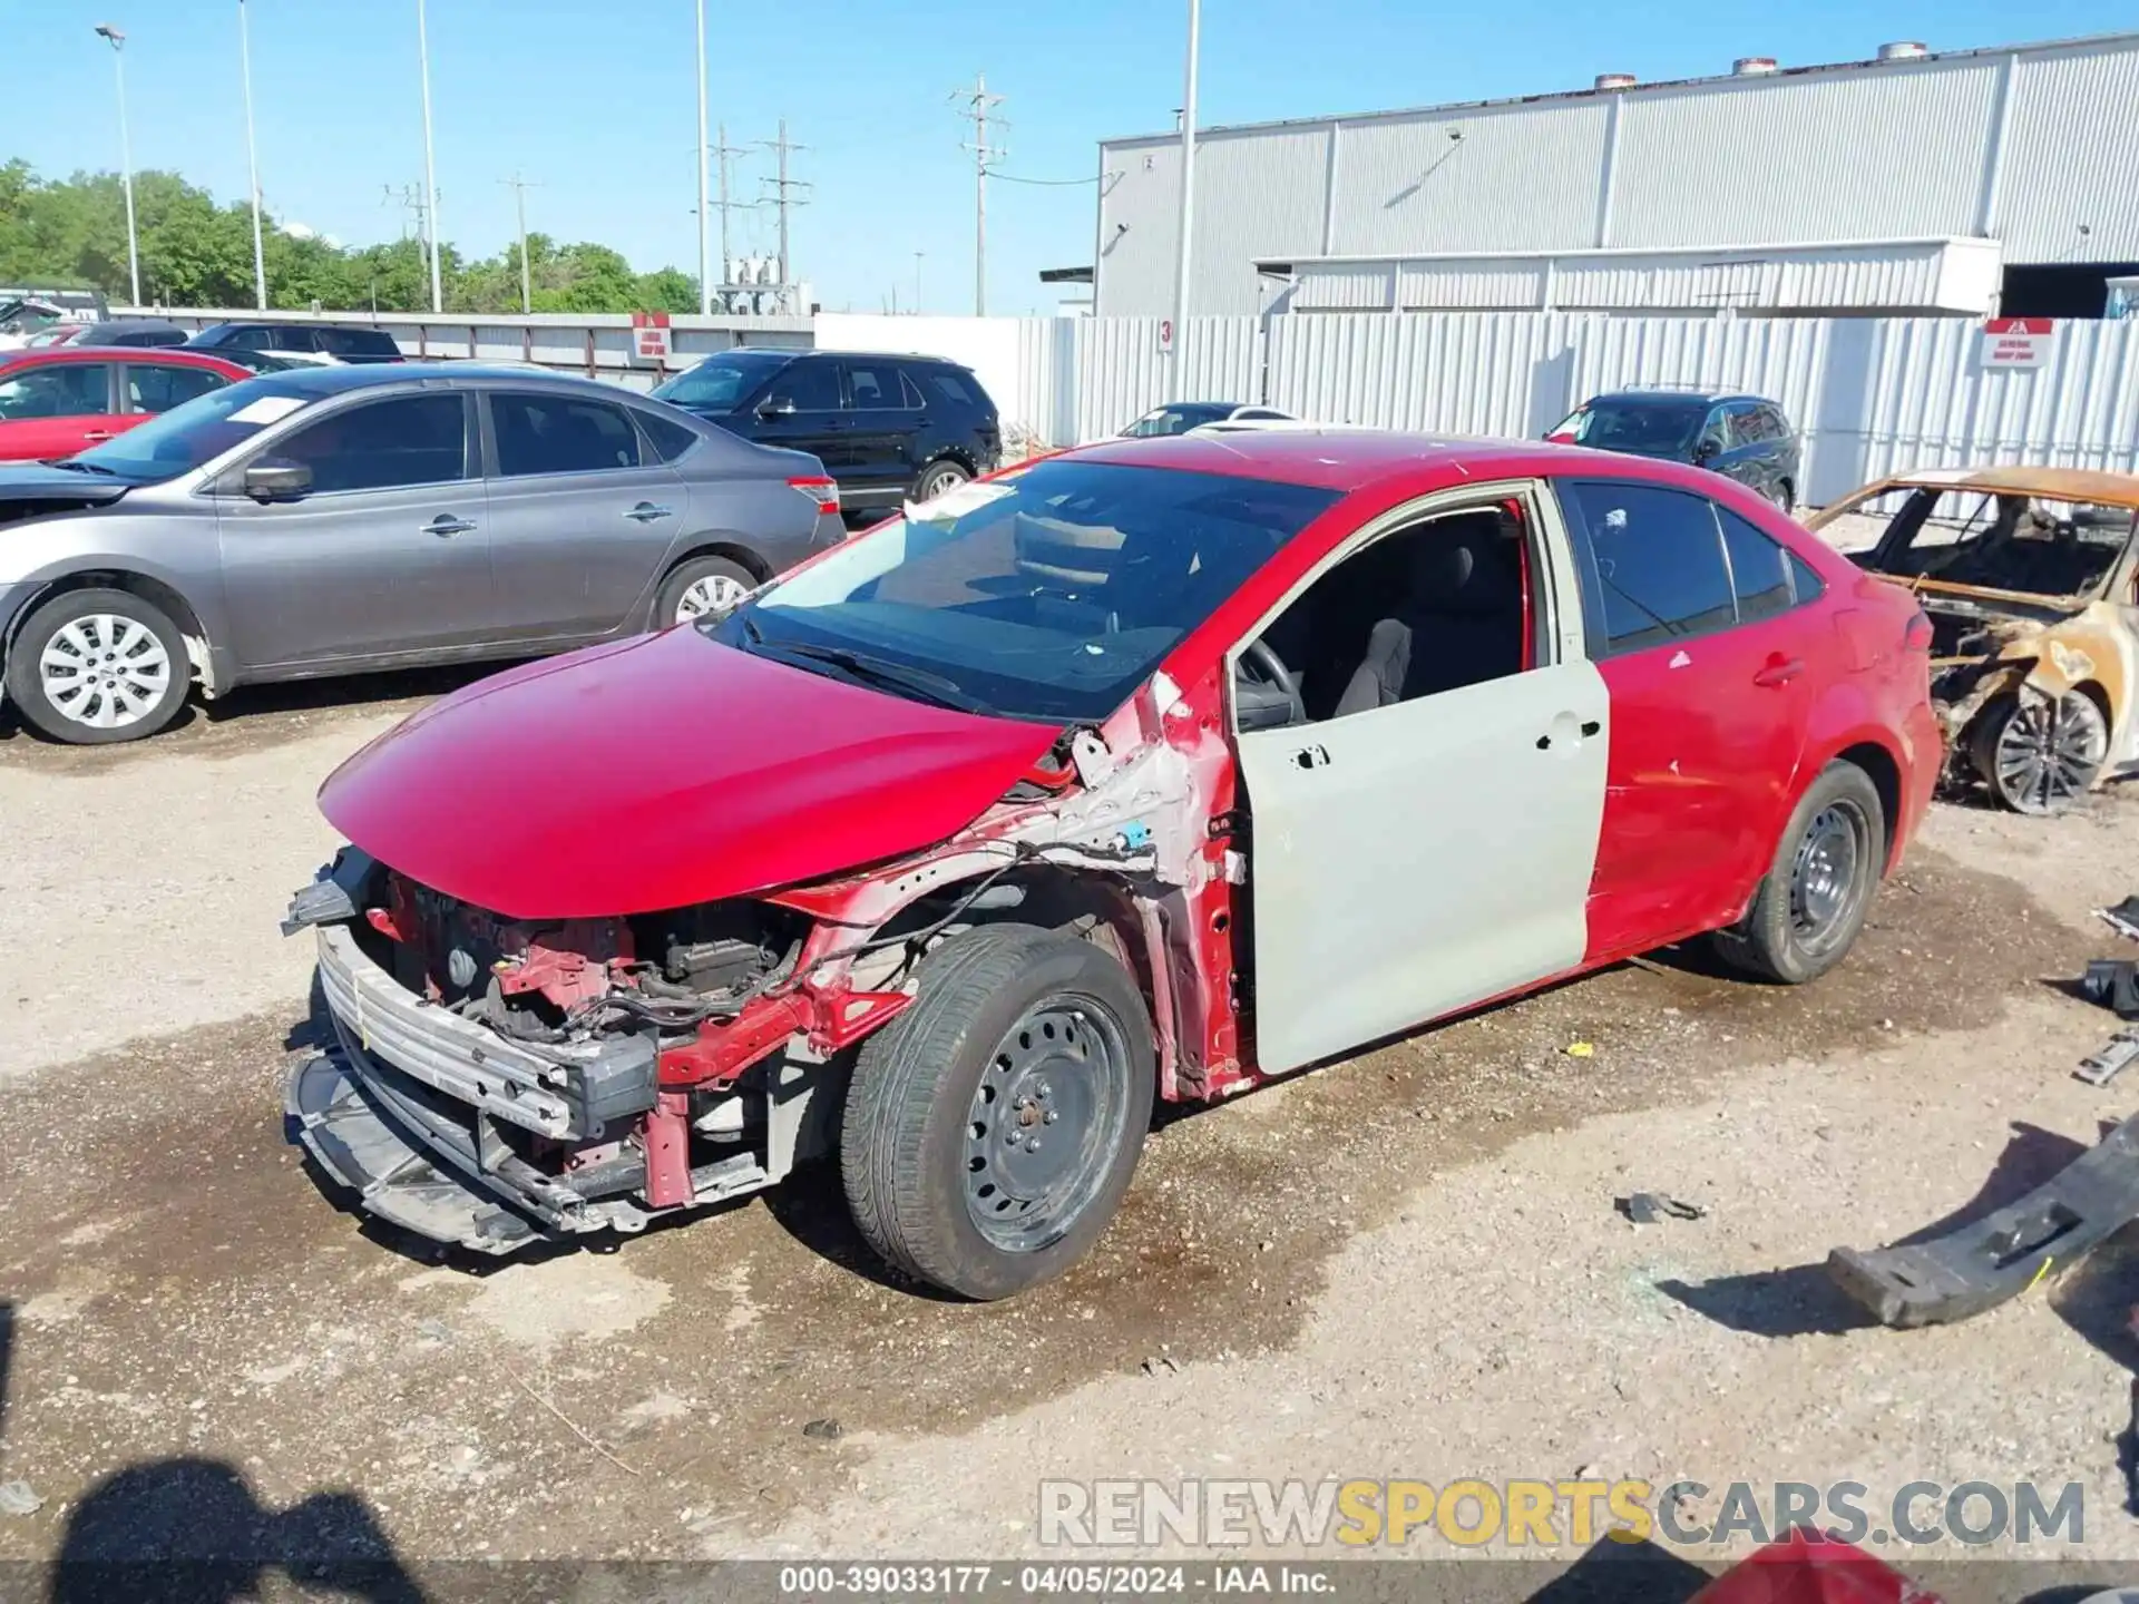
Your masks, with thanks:
[{"label": "long torn dark bumper piece lying on the dirt", "polygon": [[2139,1217],[2139,1114],[2019,1202],[1925,1243],[1827,1255],[1835,1283],[1884,1324],[1968,1320],[2071,1268]]}]

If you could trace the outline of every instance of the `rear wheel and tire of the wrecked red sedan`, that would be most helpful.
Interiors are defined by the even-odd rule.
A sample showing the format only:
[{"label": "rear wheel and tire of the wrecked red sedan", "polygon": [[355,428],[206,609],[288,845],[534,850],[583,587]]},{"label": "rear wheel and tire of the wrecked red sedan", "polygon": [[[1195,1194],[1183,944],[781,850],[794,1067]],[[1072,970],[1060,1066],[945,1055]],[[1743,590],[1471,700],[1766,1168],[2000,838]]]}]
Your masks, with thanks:
[{"label": "rear wheel and tire of the wrecked red sedan", "polygon": [[1784,986],[1818,980],[1863,930],[1884,864],[1878,789],[1855,764],[1829,764],[1790,811],[1745,917],[1715,932],[1715,950]]}]

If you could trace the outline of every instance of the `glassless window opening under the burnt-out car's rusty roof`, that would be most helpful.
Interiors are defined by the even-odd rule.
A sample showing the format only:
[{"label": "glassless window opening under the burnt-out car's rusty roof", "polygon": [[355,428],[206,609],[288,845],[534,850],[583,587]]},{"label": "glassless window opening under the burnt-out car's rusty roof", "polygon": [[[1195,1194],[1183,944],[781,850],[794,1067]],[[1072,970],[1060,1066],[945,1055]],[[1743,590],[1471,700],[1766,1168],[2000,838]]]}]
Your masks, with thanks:
[{"label": "glassless window opening under the burnt-out car's rusty roof", "polygon": [[1859,507],[1893,505],[1874,567],[1912,580],[2026,590],[2090,592],[2130,541],[2133,509],[1983,490],[1902,490]]}]

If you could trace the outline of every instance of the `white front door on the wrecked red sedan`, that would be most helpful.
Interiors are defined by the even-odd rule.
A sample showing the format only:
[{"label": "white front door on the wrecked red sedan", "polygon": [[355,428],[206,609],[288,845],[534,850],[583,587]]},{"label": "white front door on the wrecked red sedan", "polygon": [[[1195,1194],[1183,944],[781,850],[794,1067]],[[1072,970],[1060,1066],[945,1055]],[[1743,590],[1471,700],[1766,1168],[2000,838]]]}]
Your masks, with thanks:
[{"label": "white front door on the wrecked red sedan", "polygon": [[[1266,1074],[1583,960],[1611,699],[1581,650],[1557,509],[1527,485],[1495,494],[1521,505],[1527,526],[1525,584],[1542,620],[1529,667],[1236,736]],[[1444,496],[1378,528],[1405,535],[1446,511]]]}]

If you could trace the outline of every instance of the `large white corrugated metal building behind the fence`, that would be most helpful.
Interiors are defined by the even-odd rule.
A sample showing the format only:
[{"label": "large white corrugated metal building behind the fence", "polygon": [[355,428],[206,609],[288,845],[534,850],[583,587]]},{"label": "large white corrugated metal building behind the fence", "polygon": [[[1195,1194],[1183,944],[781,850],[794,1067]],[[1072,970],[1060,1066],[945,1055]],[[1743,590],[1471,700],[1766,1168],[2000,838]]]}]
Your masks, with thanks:
[{"label": "large white corrugated metal building behind the fence", "polygon": [[[2135,111],[2105,34],[1206,128],[1191,310],[2100,317]],[[1099,145],[1102,317],[1172,310],[1179,184],[1176,133]]]}]

